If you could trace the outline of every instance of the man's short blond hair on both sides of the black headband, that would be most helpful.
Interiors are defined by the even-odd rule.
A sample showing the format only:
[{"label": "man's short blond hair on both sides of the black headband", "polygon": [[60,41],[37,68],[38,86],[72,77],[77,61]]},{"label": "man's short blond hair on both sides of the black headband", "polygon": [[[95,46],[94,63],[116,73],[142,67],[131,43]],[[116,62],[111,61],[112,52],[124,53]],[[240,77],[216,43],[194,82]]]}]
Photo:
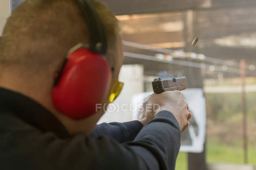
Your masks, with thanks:
[{"label": "man's short blond hair on both sides of the black headband", "polygon": [[[111,62],[119,33],[115,15],[101,2],[90,0],[104,25]],[[25,0],[9,17],[0,42],[0,64],[41,69],[56,65],[67,51],[88,42],[85,19],[76,0]]]}]

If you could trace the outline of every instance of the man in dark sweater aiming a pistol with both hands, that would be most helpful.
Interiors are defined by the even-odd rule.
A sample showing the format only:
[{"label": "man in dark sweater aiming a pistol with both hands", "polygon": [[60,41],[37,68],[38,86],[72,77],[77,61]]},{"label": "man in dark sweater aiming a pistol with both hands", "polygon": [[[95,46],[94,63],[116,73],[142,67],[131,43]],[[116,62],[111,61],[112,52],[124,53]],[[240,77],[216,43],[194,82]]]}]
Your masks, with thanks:
[{"label": "man in dark sweater aiming a pistol with both hands", "polygon": [[[106,31],[112,79],[118,79],[123,49],[117,20],[101,3],[90,3]],[[26,0],[7,21],[0,42],[1,169],[174,170],[180,132],[191,117],[179,91],[150,95],[147,103],[159,104],[160,112],[144,112],[140,121],[97,126],[103,109],[76,120],[52,104],[55,69],[70,48],[88,42],[90,23],[78,5]]]}]

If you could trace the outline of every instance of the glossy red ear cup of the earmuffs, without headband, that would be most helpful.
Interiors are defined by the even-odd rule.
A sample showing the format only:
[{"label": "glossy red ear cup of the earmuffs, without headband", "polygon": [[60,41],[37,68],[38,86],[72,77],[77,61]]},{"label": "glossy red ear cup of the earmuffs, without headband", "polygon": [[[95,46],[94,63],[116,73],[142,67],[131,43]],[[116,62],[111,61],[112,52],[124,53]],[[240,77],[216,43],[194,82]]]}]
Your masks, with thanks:
[{"label": "glossy red ear cup of the earmuffs, without headband", "polygon": [[55,108],[73,119],[92,115],[96,104],[101,104],[106,97],[111,74],[111,68],[102,55],[87,48],[76,49],[55,74],[52,89]]}]

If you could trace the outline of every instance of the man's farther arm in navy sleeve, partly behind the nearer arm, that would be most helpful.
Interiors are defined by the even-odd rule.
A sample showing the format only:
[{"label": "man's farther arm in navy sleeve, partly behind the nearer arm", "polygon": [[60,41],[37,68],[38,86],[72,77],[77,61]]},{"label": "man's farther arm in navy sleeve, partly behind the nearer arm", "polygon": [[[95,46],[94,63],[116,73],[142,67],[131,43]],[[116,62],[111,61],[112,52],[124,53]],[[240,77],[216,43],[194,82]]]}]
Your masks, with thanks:
[{"label": "man's farther arm in navy sleeve, partly behind the nearer arm", "polygon": [[143,128],[143,124],[140,121],[102,123],[96,125],[90,136],[97,138],[101,135],[108,135],[118,142],[124,143],[133,141],[141,128]]}]

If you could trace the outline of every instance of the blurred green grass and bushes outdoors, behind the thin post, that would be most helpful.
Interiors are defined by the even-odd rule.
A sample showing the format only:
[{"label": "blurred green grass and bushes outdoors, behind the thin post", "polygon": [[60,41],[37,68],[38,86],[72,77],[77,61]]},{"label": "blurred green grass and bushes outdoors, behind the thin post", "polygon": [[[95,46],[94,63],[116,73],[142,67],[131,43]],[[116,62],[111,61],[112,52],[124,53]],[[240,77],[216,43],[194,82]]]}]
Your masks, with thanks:
[{"label": "blurred green grass and bushes outdoors, behind the thin post", "polygon": [[[248,161],[256,165],[256,92],[247,93]],[[241,93],[206,93],[208,163],[243,163]],[[180,152],[176,170],[187,170]]]}]

